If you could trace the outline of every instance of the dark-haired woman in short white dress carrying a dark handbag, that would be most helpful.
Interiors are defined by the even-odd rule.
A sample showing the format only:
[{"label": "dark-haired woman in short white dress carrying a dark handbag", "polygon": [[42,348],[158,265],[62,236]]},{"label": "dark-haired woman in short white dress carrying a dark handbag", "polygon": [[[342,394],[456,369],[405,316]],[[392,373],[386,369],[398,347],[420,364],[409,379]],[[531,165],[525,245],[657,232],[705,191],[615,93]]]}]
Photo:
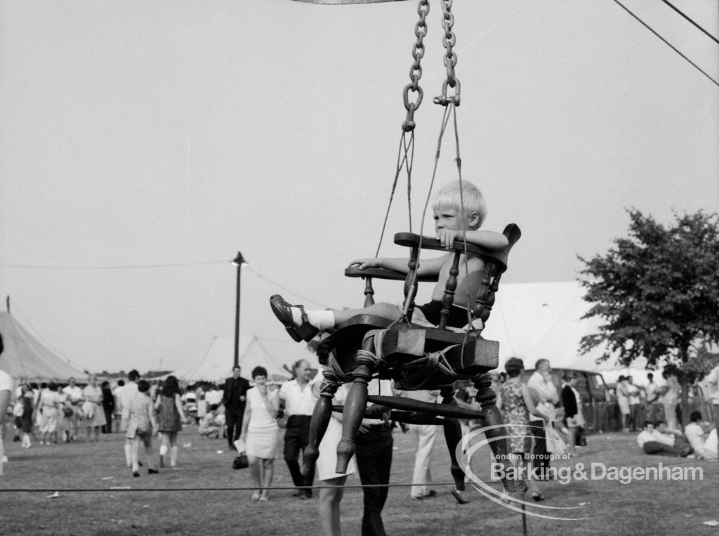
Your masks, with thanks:
[{"label": "dark-haired woman in short white dress carrying a dark handbag", "polygon": [[[255,387],[247,391],[247,402],[242,417],[240,440],[244,442],[249,471],[257,490],[252,494],[253,501],[270,499],[269,489],[275,474],[275,457],[278,432],[277,414],[280,409],[278,389],[267,386],[267,369],[252,369]],[[238,449],[240,450],[240,449]]]}]

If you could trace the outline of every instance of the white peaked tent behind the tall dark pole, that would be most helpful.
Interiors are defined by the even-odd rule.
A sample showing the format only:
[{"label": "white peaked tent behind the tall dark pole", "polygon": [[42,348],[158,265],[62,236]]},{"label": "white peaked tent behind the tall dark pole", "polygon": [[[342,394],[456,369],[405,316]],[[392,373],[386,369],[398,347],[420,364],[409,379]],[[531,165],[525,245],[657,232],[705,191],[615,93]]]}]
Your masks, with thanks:
[{"label": "white peaked tent behind the tall dark pole", "polygon": [[[280,341],[262,339],[260,337],[240,337],[239,365],[242,376],[249,378],[252,369],[262,366],[267,369],[270,378],[283,377],[289,379],[290,374],[283,368],[298,359],[306,359],[317,366],[317,358],[306,349],[306,345],[298,344],[288,338]],[[234,361],[234,337],[214,337],[206,352],[196,360],[186,363],[173,372],[178,380],[193,383],[196,381],[224,382],[232,376]]]}]

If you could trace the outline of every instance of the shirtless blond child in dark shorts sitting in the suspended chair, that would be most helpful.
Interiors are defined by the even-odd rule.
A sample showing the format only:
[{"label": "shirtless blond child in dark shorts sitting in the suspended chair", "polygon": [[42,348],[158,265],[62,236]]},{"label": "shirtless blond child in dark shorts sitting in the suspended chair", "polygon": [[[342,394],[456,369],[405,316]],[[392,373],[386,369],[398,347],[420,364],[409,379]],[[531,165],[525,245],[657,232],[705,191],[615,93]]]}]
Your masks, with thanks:
[{"label": "shirtless blond child in dark shorts sitting in the suspended chair", "polygon": [[[464,204],[464,212],[462,212]],[[478,245],[487,250],[503,250],[509,242],[505,235],[493,231],[480,231],[479,228],[487,216],[487,205],[484,196],[477,186],[467,181],[449,183],[441,188],[434,196],[432,202],[434,211],[435,236],[442,247],[449,250],[456,238],[466,236],[468,244]],[[466,231],[463,231],[466,230]],[[444,295],[444,285],[452,266],[452,253],[446,253],[439,258],[419,260],[418,276],[438,276],[439,281],[432,292],[432,299],[428,304],[417,306],[412,317],[413,324],[427,327],[439,325],[441,299]],[[365,268],[388,268],[393,271],[407,273],[408,259],[406,258],[370,258],[358,259],[349,263],[359,270]],[[457,290],[454,294],[454,304],[449,312],[448,327],[461,328],[467,325],[467,296],[473,300],[477,296],[484,275],[485,264],[480,258],[462,255],[457,276]],[[468,274],[468,276],[467,276]],[[346,322],[357,314],[372,314],[389,320],[397,320],[402,316],[402,310],[396,304],[378,303],[363,309],[338,309],[329,311],[310,311],[301,305],[290,305],[275,295],[270,298],[275,316],[283,323],[290,337],[297,342],[311,340],[318,332],[331,330],[342,322]]]}]

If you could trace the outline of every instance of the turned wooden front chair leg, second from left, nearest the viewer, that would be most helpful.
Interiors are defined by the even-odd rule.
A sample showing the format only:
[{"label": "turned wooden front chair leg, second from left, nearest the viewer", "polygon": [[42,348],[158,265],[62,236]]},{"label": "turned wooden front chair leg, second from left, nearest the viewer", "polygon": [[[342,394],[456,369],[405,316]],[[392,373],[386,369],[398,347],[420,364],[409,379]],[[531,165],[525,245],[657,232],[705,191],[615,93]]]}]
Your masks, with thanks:
[{"label": "turned wooden front chair leg, second from left, nearest the viewer", "polygon": [[336,473],[347,473],[347,465],[354,455],[354,438],[357,437],[359,424],[362,424],[367,408],[367,383],[372,379],[372,370],[377,363],[376,359],[370,357],[374,348],[374,337],[367,337],[362,343],[362,350],[357,352],[357,366],[352,372],[352,387],[349,388],[344,401],[342,440],[337,443]]}]

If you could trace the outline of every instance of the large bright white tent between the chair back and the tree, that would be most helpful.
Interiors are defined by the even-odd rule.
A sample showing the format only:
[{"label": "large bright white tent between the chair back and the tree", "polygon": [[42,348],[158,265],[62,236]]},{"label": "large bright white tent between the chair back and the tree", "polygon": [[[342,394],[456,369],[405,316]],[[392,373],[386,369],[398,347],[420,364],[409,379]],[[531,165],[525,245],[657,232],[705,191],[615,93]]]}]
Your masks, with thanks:
[{"label": "large bright white tent between the chair back and the tree", "polygon": [[603,354],[594,348],[580,354],[580,340],[598,332],[603,319],[582,319],[592,304],[585,301],[585,289],[577,281],[559,283],[500,284],[482,337],[500,342],[500,370],[510,357],[524,360],[533,368],[536,360],[549,359],[554,368],[575,368],[606,373],[606,381],[631,373],[646,377],[646,360],[631,368],[617,365],[615,359],[597,362]]}]

